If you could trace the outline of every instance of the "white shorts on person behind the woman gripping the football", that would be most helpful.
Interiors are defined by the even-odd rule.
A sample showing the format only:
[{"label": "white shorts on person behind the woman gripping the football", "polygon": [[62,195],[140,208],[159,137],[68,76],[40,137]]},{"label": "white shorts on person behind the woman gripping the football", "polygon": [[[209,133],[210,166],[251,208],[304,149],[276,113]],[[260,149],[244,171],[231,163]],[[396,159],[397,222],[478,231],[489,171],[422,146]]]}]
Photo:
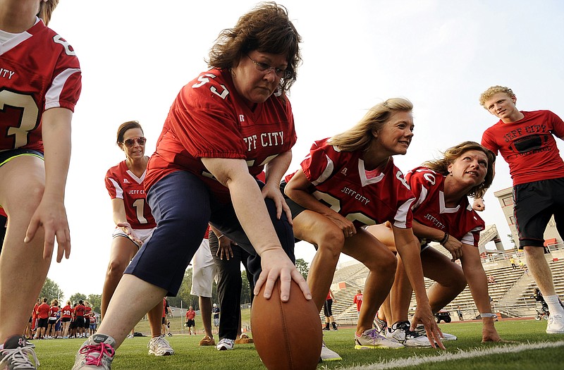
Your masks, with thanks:
[{"label": "white shorts on person behind the woman gripping the football", "polygon": [[198,297],[212,297],[212,285],[213,280],[216,279],[216,274],[216,263],[212,251],[209,250],[209,242],[204,239],[192,258],[192,290],[190,290],[190,294]]}]

